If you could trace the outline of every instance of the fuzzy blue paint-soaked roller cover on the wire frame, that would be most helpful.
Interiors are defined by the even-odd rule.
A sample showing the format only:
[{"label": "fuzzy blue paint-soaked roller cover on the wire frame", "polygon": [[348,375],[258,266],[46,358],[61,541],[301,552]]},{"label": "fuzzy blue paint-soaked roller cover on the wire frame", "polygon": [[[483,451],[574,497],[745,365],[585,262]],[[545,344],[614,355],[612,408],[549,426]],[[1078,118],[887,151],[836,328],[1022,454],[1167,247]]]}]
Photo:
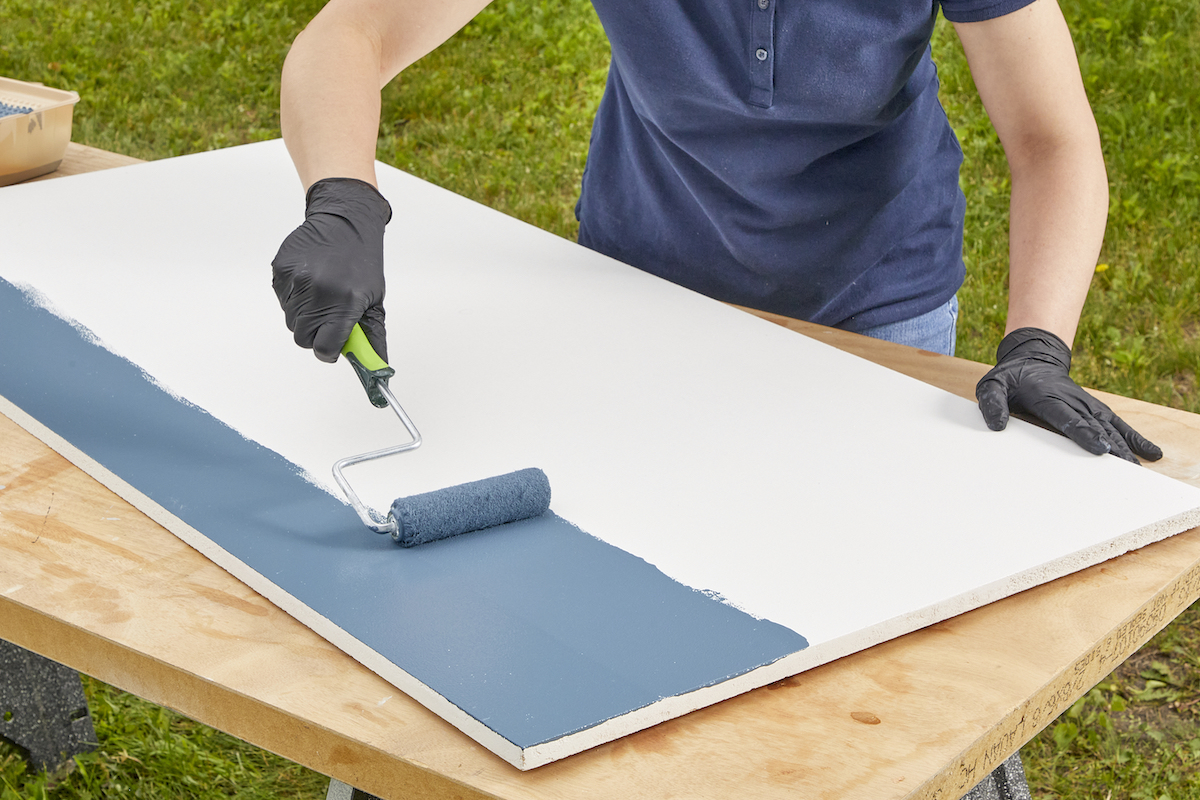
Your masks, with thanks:
[{"label": "fuzzy blue paint-soaked roller cover on the wire frame", "polygon": [[546,513],[550,479],[536,468],[400,498],[391,504],[401,547],[425,545],[473,530]]}]

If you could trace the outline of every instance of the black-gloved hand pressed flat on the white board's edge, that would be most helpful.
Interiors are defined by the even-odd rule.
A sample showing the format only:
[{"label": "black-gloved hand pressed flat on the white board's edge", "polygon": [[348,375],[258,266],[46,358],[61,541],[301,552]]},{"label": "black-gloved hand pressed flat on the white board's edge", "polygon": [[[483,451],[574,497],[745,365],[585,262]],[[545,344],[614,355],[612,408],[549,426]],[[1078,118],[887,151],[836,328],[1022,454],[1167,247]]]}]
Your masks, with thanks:
[{"label": "black-gloved hand pressed flat on the white board's edge", "polygon": [[1158,461],[1163,451],[1072,380],[1070,348],[1049,331],[1021,327],[996,348],[996,366],[976,386],[983,419],[1003,431],[1009,411],[1046,423],[1097,456],[1111,452],[1140,463]]}]

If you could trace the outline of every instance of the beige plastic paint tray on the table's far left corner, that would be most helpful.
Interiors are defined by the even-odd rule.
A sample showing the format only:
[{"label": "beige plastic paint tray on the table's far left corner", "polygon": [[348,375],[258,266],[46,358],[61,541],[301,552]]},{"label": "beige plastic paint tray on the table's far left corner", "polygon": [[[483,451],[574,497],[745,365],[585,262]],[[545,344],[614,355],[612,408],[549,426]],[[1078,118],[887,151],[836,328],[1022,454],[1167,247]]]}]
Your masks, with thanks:
[{"label": "beige plastic paint tray on the table's far left corner", "polygon": [[79,95],[0,78],[0,186],[59,168]]}]

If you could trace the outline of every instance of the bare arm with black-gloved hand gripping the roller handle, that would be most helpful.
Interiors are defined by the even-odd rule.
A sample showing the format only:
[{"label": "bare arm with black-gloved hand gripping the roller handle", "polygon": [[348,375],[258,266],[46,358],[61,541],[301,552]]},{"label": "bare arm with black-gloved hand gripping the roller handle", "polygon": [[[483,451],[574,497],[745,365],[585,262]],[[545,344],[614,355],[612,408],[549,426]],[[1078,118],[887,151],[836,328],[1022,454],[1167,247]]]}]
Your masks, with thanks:
[{"label": "bare arm with black-gloved hand gripping the roller handle", "polygon": [[271,287],[295,343],[322,361],[337,360],[355,325],[388,359],[383,239],[391,206],[376,191],[379,90],[486,5],[330,0],[288,53],[280,116],[306,192],[305,219],[271,260]]}]

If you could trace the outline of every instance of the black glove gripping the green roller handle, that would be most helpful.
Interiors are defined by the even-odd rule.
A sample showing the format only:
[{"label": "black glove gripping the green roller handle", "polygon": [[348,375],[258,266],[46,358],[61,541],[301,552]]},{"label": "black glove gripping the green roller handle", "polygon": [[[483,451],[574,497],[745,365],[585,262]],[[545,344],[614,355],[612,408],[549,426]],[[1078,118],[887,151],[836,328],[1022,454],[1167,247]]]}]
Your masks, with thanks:
[{"label": "black glove gripping the green roller handle", "polygon": [[354,323],[388,360],[383,321],[383,229],[391,206],[353,178],[326,178],[308,188],[305,221],[275,260],[271,287],[296,344],[337,361]]}]

